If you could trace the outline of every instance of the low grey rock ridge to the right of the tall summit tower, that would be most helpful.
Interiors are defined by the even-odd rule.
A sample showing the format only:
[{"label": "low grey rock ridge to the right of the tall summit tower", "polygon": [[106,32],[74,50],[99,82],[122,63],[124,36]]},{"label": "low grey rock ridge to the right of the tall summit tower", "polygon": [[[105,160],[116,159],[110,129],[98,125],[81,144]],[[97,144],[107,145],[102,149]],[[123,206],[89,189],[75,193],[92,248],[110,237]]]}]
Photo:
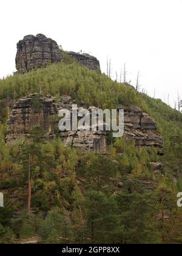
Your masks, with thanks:
[{"label": "low grey rock ridge to the right of the tall summit tower", "polygon": [[99,60],[89,54],[79,54],[77,52],[67,52],[67,54],[73,57],[77,62],[86,66],[88,69],[101,70]]}]

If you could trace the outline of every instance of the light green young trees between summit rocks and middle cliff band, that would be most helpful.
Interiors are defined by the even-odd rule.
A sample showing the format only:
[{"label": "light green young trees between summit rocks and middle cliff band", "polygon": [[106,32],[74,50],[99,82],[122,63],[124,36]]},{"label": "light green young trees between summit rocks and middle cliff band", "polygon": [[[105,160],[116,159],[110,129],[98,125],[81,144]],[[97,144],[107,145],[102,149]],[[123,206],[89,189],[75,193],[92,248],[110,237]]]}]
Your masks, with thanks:
[{"label": "light green young trees between summit rocks and middle cliff band", "polygon": [[[114,108],[118,104],[144,104],[132,88],[90,71],[72,59],[0,80],[0,99],[13,99],[14,95],[21,98],[29,93],[39,93],[40,88],[44,95],[67,94],[79,102],[84,101],[87,106]],[[36,100],[33,105],[35,109],[41,107]]]}]

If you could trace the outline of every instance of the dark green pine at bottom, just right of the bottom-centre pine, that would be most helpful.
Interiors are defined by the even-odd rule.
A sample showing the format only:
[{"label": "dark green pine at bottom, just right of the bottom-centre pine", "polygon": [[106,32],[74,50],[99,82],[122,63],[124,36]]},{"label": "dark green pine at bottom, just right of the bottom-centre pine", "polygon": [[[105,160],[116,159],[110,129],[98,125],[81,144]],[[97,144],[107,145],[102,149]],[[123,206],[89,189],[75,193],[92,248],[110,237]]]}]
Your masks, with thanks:
[{"label": "dark green pine at bottom, just right of the bottom-centre pine", "polygon": [[[147,244],[159,243],[160,236],[155,224],[150,225],[153,216],[151,193],[119,193],[118,207],[121,212],[121,223],[124,225],[123,243]],[[150,231],[149,231],[150,229]]]}]

